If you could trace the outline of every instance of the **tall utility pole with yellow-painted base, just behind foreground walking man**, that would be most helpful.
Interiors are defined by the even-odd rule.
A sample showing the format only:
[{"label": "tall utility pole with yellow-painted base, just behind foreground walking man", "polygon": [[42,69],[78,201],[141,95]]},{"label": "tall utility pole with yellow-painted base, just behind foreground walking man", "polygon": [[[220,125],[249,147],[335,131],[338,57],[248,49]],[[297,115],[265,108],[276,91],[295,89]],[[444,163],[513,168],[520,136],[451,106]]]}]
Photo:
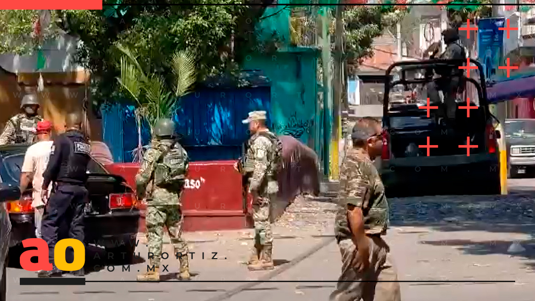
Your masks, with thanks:
[{"label": "tall utility pole with yellow-painted base, just behind foreground walking man", "polygon": [[331,173],[330,180],[339,178],[340,136],[342,135],[340,119],[340,103],[342,101],[342,35],[343,5],[336,7],[336,24],[334,29],[334,95],[333,95],[333,128],[331,132]]}]

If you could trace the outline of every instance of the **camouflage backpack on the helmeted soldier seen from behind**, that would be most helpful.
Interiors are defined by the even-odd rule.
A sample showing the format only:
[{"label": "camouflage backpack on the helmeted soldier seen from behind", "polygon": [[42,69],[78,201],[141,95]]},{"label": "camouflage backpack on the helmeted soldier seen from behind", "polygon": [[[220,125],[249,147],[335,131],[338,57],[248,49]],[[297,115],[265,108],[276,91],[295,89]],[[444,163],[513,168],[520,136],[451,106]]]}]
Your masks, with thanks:
[{"label": "camouflage backpack on the helmeted soldier seen from behind", "polygon": [[154,184],[158,187],[181,188],[186,178],[186,159],[178,142],[165,149],[154,169]]}]

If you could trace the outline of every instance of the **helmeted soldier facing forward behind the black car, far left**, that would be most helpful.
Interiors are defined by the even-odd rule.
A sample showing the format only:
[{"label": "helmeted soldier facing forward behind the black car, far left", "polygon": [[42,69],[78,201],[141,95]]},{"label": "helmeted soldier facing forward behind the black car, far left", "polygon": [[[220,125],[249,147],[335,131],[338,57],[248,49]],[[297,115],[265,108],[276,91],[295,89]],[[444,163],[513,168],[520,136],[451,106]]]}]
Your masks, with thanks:
[{"label": "helmeted soldier facing forward behind the black car, far left", "polygon": [[37,122],[42,121],[43,118],[37,115],[39,109],[39,102],[35,95],[25,95],[20,103],[21,113],[14,115],[4,128],[4,132],[0,135],[0,145],[25,143],[32,144],[34,142],[34,130],[37,127]]}]

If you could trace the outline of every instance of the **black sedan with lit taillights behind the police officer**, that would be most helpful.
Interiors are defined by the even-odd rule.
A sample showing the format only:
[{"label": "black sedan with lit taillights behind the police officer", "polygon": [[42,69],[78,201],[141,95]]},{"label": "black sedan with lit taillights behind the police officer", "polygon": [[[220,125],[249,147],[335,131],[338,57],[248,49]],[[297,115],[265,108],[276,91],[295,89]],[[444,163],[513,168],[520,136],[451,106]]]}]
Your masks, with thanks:
[{"label": "black sedan with lit taillights behind the police officer", "polygon": [[[24,191],[20,201],[20,168],[28,146],[0,146],[0,196],[11,221],[11,240],[20,242],[35,237],[31,191]],[[135,194],[125,179],[108,173],[95,160],[89,163],[85,212],[85,240],[103,246],[116,260],[133,258],[140,212]]]}]

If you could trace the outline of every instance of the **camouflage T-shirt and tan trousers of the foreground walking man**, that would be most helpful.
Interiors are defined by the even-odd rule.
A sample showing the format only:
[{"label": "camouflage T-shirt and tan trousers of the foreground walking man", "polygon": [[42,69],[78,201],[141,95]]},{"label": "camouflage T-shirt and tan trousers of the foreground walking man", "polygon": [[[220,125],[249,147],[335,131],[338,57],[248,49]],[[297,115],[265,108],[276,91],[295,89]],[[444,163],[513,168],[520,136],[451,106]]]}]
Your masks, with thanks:
[{"label": "camouflage T-shirt and tan trousers of the foreground walking man", "polygon": [[[381,235],[386,234],[388,226],[385,188],[377,169],[362,149],[350,149],[343,161],[339,200],[335,236],[342,255],[342,274],[330,300],[399,301],[399,283],[388,282],[397,281],[398,276],[391,261],[389,247],[381,238]],[[357,247],[351,239],[353,234],[347,220],[348,204],[361,207],[364,213],[365,234],[370,245],[370,267],[363,273],[359,273],[354,266]]]}]

